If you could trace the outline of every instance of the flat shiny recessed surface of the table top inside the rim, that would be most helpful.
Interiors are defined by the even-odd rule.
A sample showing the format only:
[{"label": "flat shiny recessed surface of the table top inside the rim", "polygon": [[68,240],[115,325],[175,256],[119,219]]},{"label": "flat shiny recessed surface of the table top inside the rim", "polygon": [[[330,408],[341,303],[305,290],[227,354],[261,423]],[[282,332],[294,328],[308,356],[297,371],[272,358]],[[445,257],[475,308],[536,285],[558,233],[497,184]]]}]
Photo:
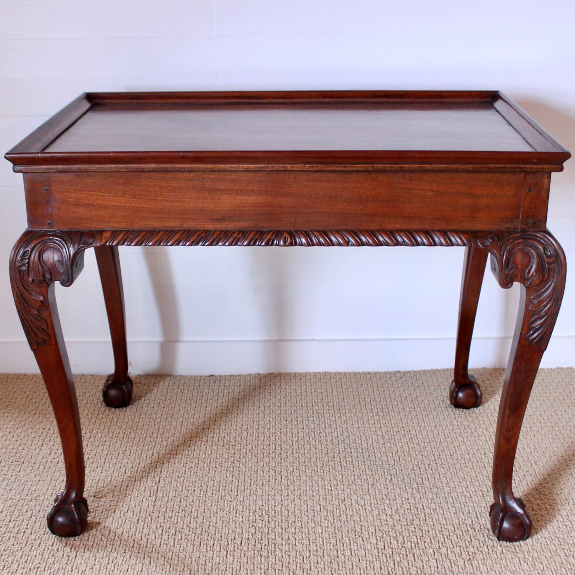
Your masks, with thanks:
[{"label": "flat shiny recessed surface of the table top inside the rim", "polygon": [[489,102],[95,104],[44,151],[88,147],[94,152],[533,151]]}]

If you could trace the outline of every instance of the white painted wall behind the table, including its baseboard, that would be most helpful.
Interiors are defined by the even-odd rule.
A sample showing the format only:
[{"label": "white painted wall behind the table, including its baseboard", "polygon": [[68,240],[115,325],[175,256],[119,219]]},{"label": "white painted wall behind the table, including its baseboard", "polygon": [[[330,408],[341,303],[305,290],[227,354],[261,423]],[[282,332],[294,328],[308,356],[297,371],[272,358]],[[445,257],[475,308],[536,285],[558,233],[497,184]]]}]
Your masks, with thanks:
[{"label": "white painted wall behind the table, including its baseboard", "polygon": [[[565,0],[0,0],[0,151],[82,91],[499,89],[575,150]],[[7,261],[22,177],[0,161],[0,371],[36,371]],[[575,270],[575,160],[549,228]],[[132,373],[394,370],[453,363],[463,250],[120,248]],[[516,286],[485,279],[471,363],[505,364]],[[57,289],[73,369],[109,373],[93,253]],[[575,273],[543,365],[575,364]]]}]

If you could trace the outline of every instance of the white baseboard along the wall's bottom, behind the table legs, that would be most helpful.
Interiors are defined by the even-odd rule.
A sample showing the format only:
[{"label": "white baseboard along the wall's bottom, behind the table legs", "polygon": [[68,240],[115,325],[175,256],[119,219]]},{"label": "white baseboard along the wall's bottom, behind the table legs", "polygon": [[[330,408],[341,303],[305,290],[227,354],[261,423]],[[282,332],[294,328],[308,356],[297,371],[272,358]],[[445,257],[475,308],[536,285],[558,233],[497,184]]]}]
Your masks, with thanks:
[{"label": "white baseboard along the wall's bottom, behind the table legs", "polygon": [[[472,367],[504,367],[511,338],[475,338]],[[108,374],[108,341],[68,341],[75,373]],[[455,338],[255,341],[132,341],[130,372],[210,375],[281,371],[394,371],[453,366]],[[575,365],[575,337],[554,336],[542,367]],[[0,372],[38,373],[24,341],[0,342]]]}]

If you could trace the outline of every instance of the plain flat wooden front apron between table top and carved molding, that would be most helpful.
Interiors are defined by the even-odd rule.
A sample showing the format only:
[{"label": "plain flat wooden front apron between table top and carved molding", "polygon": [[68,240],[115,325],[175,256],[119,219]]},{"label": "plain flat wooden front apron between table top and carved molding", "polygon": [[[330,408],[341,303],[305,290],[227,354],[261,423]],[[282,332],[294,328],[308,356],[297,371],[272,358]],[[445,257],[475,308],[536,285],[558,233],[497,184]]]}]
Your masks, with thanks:
[{"label": "plain flat wooden front apron between table top and carved molding", "polygon": [[543,229],[549,173],[29,173],[32,229]]}]

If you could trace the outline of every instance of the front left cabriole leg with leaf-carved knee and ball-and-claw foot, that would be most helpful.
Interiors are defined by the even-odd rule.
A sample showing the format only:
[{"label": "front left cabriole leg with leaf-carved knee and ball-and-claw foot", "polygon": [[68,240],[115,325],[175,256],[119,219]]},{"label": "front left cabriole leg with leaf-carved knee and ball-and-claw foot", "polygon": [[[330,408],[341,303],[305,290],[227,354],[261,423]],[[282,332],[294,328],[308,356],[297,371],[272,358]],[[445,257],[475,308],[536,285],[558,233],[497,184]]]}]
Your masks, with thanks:
[{"label": "front left cabriole leg with leaf-carved knee and ball-and-claw foot", "polygon": [[96,238],[81,232],[28,230],[10,256],[14,301],[52,403],[62,442],[66,486],[48,515],[48,528],[62,537],[81,534],[88,505],[84,497],[84,454],[78,402],[56,308],[54,284],[72,284],[83,268],[83,252]]}]

